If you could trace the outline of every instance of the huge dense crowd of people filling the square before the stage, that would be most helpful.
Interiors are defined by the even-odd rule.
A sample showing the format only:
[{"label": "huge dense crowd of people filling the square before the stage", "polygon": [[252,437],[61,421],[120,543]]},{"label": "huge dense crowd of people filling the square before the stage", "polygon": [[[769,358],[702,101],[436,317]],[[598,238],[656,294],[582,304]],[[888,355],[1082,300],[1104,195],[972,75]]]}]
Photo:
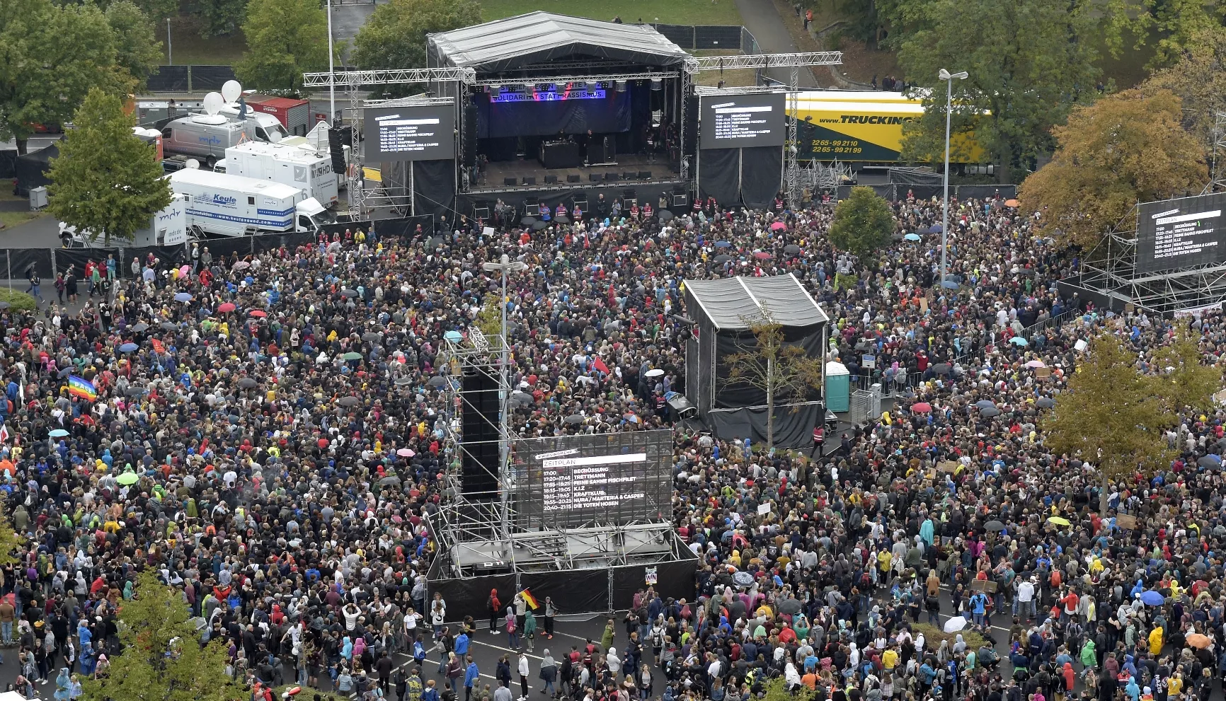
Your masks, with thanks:
[{"label": "huge dense crowd of people filling the square before the stage", "polygon": [[[895,241],[872,259],[829,244],[832,202],[709,200],[667,221],[593,207],[493,237],[376,225],[186,271],[136,261],[80,311],[5,310],[0,489],[28,537],[0,572],[15,688],[32,697],[66,669],[55,688],[75,697],[105,675],[116,610],[154,567],[255,699],[299,684],[511,701],[539,679],[585,701],[743,701],[779,679],[821,701],[1206,701],[1226,668],[1226,523],[1220,472],[1199,458],[1221,452],[1224,415],[1187,417],[1166,436],[1179,460],[1113,484],[1107,515],[1094,468],[1047,450],[1040,419],[1094,328],[1144,353],[1186,324],[1216,362],[1226,317],[1062,298],[1075,259],[1000,197],[951,205],[946,289],[939,235],[906,237],[939,202],[893,207]],[[525,263],[505,301],[525,438],[671,426],[661,398],[685,386],[695,278],[796,275],[832,320],[830,359],[905,395],[829,453],[677,430],[694,596],[649,589],[601,640],[542,643],[539,663],[508,653],[487,685],[470,651],[484,620],[516,651],[549,640],[558,613],[497,591],[454,612],[425,581],[427,522],[457,464],[444,335],[497,308],[482,263],[503,254]],[[1063,324],[1027,332],[1047,319]]]}]

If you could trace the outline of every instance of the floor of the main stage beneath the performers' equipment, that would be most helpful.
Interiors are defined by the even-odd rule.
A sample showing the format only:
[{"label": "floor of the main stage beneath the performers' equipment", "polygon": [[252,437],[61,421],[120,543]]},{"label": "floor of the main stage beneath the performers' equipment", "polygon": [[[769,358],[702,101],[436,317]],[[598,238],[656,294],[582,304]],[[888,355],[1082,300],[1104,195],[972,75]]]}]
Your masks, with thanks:
[{"label": "floor of the main stage beneath the performers' equipment", "polygon": [[[615,173],[617,180],[607,180],[608,173]],[[600,181],[593,181],[591,175],[598,175]],[[631,175],[633,178],[626,178]],[[641,175],[650,174],[647,178]],[[546,183],[546,175],[555,175],[557,183]],[[566,176],[579,176],[577,183],[569,183]],[[515,184],[508,184],[508,179],[515,179]],[[525,184],[525,178],[536,178],[536,184]],[[543,190],[553,186],[558,188],[590,188],[596,185],[620,185],[628,186],[651,183],[673,183],[678,175],[668,167],[668,161],[663,153],[655,158],[639,154],[619,154],[615,164],[588,165],[586,168],[549,168],[541,165],[536,158],[520,158],[516,161],[499,161],[487,164],[481,180],[470,189],[470,192],[501,192],[508,190]]]}]

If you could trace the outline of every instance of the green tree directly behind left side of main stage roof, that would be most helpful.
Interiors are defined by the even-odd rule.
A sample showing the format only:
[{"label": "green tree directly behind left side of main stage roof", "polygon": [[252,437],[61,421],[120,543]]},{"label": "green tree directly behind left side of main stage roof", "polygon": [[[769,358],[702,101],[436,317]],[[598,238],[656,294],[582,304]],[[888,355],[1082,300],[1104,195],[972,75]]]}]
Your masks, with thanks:
[{"label": "green tree directly behind left side of main stage roof", "polygon": [[[476,0],[391,0],[374,13],[353,39],[353,63],[359,69],[416,69],[425,66],[425,34],[481,22]],[[391,86],[386,97],[403,97],[409,86]]]}]

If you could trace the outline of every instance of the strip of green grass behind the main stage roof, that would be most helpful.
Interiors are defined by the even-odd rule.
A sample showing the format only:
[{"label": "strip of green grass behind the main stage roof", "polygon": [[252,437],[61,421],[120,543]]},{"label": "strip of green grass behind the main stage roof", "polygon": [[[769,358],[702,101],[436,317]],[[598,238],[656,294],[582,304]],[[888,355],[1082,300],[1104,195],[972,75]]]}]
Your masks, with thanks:
[{"label": "strip of green grass behind the main stage roof", "polygon": [[[482,0],[482,21],[500,20],[536,10],[625,23],[741,25],[734,0]],[[178,54],[178,51],[175,51]]]}]

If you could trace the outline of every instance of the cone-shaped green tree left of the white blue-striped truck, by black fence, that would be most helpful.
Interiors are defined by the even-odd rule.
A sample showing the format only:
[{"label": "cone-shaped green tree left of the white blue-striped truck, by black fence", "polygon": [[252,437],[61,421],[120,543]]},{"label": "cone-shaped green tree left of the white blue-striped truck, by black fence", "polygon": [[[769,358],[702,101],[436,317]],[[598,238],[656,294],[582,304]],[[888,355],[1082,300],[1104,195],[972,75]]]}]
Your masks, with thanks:
[{"label": "cone-shaped green tree left of the white blue-striped truck, by black fence", "polygon": [[132,134],[134,120],[120,99],[99,89],[86,96],[74,125],[51,161],[48,208],[105,245],[131,240],[170,203],[156,150]]}]

